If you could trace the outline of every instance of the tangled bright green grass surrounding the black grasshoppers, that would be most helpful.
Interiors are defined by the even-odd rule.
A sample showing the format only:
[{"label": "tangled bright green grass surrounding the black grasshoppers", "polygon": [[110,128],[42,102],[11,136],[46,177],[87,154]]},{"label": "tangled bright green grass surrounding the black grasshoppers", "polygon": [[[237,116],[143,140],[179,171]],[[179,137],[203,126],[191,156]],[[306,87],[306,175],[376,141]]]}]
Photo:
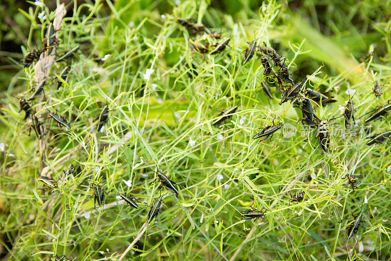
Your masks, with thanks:
[{"label": "tangled bright green grass surrounding the black grasshoppers", "polygon": [[[47,131],[42,141],[33,132],[26,135],[30,120],[22,119],[12,97],[35,86],[33,66],[21,68],[2,95],[0,240],[10,251],[6,258],[50,260],[56,253],[78,261],[119,260],[139,236],[123,260],[390,260],[390,142],[368,146],[365,139],[390,129],[390,120],[372,122],[369,133],[359,133],[369,126],[362,116],[391,94],[391,27],[382,4],[373,10],[375,2],[358,9],[355,3],[330,3],[334,9],[321,13],[321,4],[311,1],[217,6],[202,0],[176,6],[117,0],[68,7],[73,16],[62,22],[59,49],[81,47],[63,87],[55,90],[55,81],[49,81],[45,98],[34,101]],[[25,37],[37,48],[34,42],[45,32],[37,18],[42,10],[32,6],[24,10],[35,21]],[[230,47],[203,60],[188,39],[211,45],[217,40],[193,35],[177,17],[216,27],[223,38],[232,37]],[[321,155],[317,131],[304,132],[297,122],[300,110],[289,102],[279,105],[278,87],[272,88],[277,98],[264,95],[260,82],[267,78],[260,61],[254,57],[241,65],[246,42],[254,39],[287,58],[295,82],[307,79],[307,87],[337,90],[338,102],[316,107],[321,119],[340,116],[348,86],[357,90],[354,115],[362,117],[357,132],[344,139],[344,120],[336,119],[330,153]],[[371,50],[375,55],[360,63]],[[94,54],[111,56],[97,65]],[[55,64],[51,77],[64,66]],[[150,68],[155,71],[147,81],[143,74]],[[374,79],[384,85],[380,98],[372,93]],[[93,133],[93,119],[106,103],[109,120],[103,132]],[[221,109],[234,105],[239,109],[231,119],[211,126]],[[46,119],[44,106],[58,109],[72,131]],[[288,137],[282,128],[271,140],[252,140],[274,116],[275,123],[289,123],[298,132]],[[37,175],[57,180],[70,163],[76,170],[67,183],[59,182],[58,191],[39,190]],[[156,164],[185,188],[178,188],[178,197],[161,190],[168,192],[162,213],[144,232],[148,206],[160,195],[149,167]],[[344,186],[347,173],[362,174],[357,190]],[[131,187],[122,180],[131,180]],[[90,182],[104,183],[108,192],[105,207],[97,211]],[[308,201],[289,205],[288,192],[301,190]],[[118,192],[135,196],[141,208],[119,204]],[[348,241],[350,214],[360,212],[364,195],[366,223]],[[253,201],[270,211],[264,220],[241,221],[239,211]]]}]

